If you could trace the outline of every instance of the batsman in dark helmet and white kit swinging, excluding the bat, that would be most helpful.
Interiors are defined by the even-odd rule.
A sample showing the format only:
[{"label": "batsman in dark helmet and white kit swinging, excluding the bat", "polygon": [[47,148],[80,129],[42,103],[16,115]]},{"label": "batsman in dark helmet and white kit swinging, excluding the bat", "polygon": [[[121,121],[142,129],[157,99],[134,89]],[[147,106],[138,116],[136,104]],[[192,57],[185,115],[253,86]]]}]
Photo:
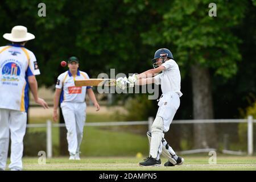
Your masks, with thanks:
[{"label": "batsman in dark helmet and white kit swinging, excluding the bat", "polygon": [[[133,74],[129,78],[118,78],[117,86],[125,88],[126,85],[144,85],[144,84],[161,84],[162,96],[158,102],[158,112],[151,126],[151,132],[147,132],[150,142],[149,157],[144,162],[139,163],[140,166],[160,166],[160,154],[168,159],[164,166],[181,165],[183,158],[177,156],[172,147],[164,139],[171,125],[172,119],[180,106],[180,71],[179,66],[174,61],[174,57],[170,50],[166,48],[158,49],[155,52],[153,61],[154,69],[150,69],[139,75]],[[160,73],[162,72],[162,73]],[[158,74],[160,73],[160,74]],[[156,75],[158,74],[158,75]]]}]

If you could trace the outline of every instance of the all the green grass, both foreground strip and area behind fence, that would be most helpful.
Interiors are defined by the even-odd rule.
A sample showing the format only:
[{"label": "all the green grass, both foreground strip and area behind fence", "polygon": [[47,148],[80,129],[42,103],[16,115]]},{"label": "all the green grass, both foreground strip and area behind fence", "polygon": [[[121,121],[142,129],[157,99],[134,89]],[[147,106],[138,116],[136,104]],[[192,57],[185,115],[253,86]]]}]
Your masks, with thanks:
[{"label": "all the green grass, both foreground strip and area behind fence", "polygon": [[[50,117],[31,118],[31,123],[44,123]],[[115,121],[112,115],[88,115],[88,122]],[[162,167],[140,167],[143,158],[136,158],[137,152],[143,156],[148,152],[146,135],[131,132],[129,128],[85,127],[81,144],[81,160],[68,160],[67,157],[56,157],[59,153],[59,129],[52,129],[53,158],[46,164],[39,164],[38,158],[23,158],[23,170],[96,170],[96,171],[212,171],[212,170],[253,170],[256,171],[256,156],[230,156],[217,154],[217,164],[209,164],[208,154],[183,156],[181,166],[164,167],[167,161],[162,158]],[[45,132],[45,128],[28,129],[28,133]],[[134,130],[134,129],[133,129]],[[34,136],[34,135],[33,135]],[[37,140],[36,140],[37,141]],[[38,142],[38,141],[37,141]],[[42,142],[45,142],[44,140]],[[40,150],[45,150],[41,149]],[[36,156],[37,152],[32,156]],[[123,157],[126,156],[126,157]],[[10,163],[10,160],[9,160]]]}]

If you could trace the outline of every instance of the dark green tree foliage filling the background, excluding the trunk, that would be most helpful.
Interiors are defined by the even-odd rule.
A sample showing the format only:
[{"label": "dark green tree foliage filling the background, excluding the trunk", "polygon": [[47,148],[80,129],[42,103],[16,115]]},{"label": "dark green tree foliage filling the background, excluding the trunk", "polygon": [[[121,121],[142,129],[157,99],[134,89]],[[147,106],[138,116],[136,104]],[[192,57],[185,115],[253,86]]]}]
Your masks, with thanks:
[{"label": "dark green tree foliage filling the background, excluding the trunk", "polygon": [[[182,82],[179,119],[192,115],[192,64],[210,68],[215,118],[238,118],[256,94],[255,1],[215,1],[217,17],[208,16],[210,0],[193,1],[2,1],[1,34],[23,25],[35,34],[27,43],[38,59],[39,85],[52,86],[65,69],[61,60],[75,55],[90,77],[99,73],[140,73],[152,68],[156,49],[171,49]],[[0,40],[1,46],[7,44]],[[126,96],[123,96],[126,97]]]}]

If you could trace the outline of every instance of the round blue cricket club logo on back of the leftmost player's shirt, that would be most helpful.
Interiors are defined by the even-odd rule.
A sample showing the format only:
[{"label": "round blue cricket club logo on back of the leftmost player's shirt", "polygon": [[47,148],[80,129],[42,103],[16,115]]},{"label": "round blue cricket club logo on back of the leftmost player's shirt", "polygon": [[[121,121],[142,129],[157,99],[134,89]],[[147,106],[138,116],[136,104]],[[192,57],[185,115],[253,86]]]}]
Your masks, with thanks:
[{"label": "round blue cricket club logo on back of the leftmost player's shirt", "polygon": [[9,62],[4,64],[2,67],[2,77],[1,81],[2,84],[6,85],[17,85],[17,84],[11,84],[11,82],[19,81],[19,75],[20,75],[20,67],[18,64],[14,62]]}]

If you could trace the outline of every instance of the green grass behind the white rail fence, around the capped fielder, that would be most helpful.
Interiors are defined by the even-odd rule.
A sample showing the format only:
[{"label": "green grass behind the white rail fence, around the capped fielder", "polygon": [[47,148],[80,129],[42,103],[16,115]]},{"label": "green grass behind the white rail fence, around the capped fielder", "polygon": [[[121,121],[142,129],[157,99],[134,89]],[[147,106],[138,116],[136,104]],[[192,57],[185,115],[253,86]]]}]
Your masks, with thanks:
[{"label": "green grass behind the white rail fence, around the capped fielder", "polygon": [[[45,123],[50,117],[35,117],[30,118],[30,123]],[[102,114],[88,114],[86,122],[108,122],[116,121],[112,115],[102,115]],[[81,144],[81,155],[85,156],[135,156],[137,152],[141,152],[146,155],[148,150],[148,139],[146,137],[147,126],[137,126],[145,129],[144,134],[137,134],[131,131],[131,127],[121,126],[121,127],[85,127],[84,137]],[[130,129],[130,130],[129,130]],[[132,128],[134,129],[134,128]],[[135,129],[134,129],[135,130]],[[59,128],[52,128],[52,144],[53,144],[53,156],[59,156]],[[39,133],[46,133],[46,128],[29,128],[27,130],[27,135],[30,133],[35,133],[32,138],[36,137]],[[46,143],[46,140],[40,138],[41,140],[35,140],[36,143],[33,144]],[[26,140],[24,142],[26,144]],[[33,155],[36,156],[38,151],[46,151],[46,146],[42,148],[32,148]],[[104,148],[104,152],[102,152]],[[31,149],[30,149],[31,152]],[[25,152],[27,154],[27,152]]]}]

